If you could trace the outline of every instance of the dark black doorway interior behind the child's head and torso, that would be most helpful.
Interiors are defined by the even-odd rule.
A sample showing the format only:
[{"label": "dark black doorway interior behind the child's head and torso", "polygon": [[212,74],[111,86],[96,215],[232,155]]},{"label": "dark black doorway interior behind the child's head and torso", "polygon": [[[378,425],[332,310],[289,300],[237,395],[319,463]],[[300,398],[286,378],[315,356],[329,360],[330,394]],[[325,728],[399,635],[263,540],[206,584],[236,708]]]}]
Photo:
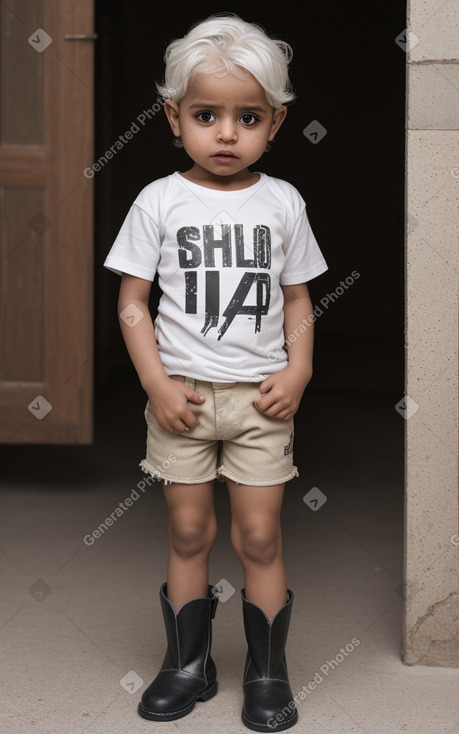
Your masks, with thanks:
[{"label": "dark black doorway interior behind the child's head and torso", "polygon": [[[137,384],[133,395],[144,401],[117,322],[119,278],[103,261],[140,189],[191,167],[172,144],[163,110],[143,124],[139,115],[156,102],[168,41],[197,20],[228,10],[294,50],[297,100],[256,170],[299,189],[329,266],[309,283],[322,314],[304,402],[313,393],[401,397],[405,55],[394,39],[404,27],[403,3],[315,0],[279,12],[278,4],[267,3],[235,2],[228,9],[179,1],[158,10],[155,3],[97,0],[94,160],[133,123],[139,131],[95,176],[96,405],[128,382]],[[317,144],[303,135],[312,120],[327,130]],[[340,283],[353,271],[359,277],[343,291]],[[155,284],[153,315],[158,297]],[[300,409],[299,440],[309,421]]]}]

